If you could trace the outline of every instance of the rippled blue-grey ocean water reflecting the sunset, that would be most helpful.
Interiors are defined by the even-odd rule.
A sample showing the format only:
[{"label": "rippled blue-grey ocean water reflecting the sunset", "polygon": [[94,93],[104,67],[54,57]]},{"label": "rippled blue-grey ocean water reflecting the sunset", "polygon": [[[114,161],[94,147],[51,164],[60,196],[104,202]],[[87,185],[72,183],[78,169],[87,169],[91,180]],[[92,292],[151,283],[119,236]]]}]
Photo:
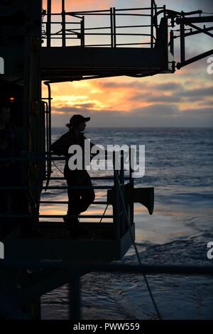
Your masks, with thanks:
[{"label": "rippled blue-grey ocean water reflecting the sunset", "polygon": [[[65,131],[53,129],[53,141]],[[94,144],[146,146],[145,176],[136,178],[135,185],[155,188],[155,209],[153,215],[148,215],[146,208],[135,204],[136,244],[141,261],[213,265],[213,259],[207,259],[207,243],[213,242],[212,129],[88,127],[85,135]],[[62,171],[62,161],[56,164]],[[53,171],[52,176],[61,176],[55,166]],[[109,172],[96,173],[104,176]],[[104,199],[104,195],[103,190],[96,190],[96,200]],[[52,190],[43,195],[43,199],[48,198],[67,200],[67,194]],[[66,209],[66,205],[43,205],[40,213],[65,214]],[[101,205],[91,205],[88,210],[103,212]],[[106,213],[111,213],[110,208]],[[137,264],[133,247],[121,262]],[[164,319],[213,319],[212,276],[148,275],[148,281]],[[141,275],[90,273],[82,277],[81,284],[83,319],[156,318]],[[68,318],[67,292],[65,285],[42,297],[43,319]]]}]

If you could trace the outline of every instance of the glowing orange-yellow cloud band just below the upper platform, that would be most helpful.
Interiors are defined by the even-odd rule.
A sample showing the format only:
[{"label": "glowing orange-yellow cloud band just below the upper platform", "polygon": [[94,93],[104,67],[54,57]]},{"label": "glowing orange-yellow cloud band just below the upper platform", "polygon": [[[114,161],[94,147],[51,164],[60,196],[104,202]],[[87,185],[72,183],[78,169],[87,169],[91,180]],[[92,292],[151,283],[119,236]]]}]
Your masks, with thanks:
[{"label": "glowing orange-yellow cloud band just below the upper platform", "polygon": [[[189,78],[190,80],[190,78]],[[212,86],[197,80],[185,82],[175,75],[141,79],[116,77],[82,82],[53,84],[52,108],[55,114],[67,112],[125,112],[155,105],[175,106],[179,110],[211,105]],[[43,92],[43,96],[46,96]],[[207,103],[208,102],[208,103]]]}]

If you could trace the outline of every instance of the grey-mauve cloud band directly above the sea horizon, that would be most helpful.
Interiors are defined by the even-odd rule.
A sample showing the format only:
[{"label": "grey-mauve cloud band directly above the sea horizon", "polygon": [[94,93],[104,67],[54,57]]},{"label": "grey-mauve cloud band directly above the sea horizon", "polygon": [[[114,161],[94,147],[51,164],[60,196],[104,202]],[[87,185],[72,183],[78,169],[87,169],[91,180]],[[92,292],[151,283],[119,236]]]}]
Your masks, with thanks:
[{"label": "grey-mauve cloud band directly above the sea horizon", "polygon": [[212,107],[180,111],[177,106],[168,104],[152,104],[148,107],[133,109],[131,112],[111,112],[110,110],[97,112],[87,108],[72,107],[67,108],[65,114],[53,113],[53,126],[65,126],[72,114],[91,117],[89,126],[213,126]]}]

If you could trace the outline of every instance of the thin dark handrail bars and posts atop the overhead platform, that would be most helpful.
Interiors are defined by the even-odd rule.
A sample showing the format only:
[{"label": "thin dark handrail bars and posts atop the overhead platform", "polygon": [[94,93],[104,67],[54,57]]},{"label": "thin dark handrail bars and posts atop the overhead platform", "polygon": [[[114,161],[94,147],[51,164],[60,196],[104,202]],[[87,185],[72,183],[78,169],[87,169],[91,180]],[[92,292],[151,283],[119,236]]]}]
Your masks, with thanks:
[{"label": "thin dark handrail bars and posts atop the overhead platform", "polygon": [[[157,7],[154,0],[151,0],[151,6],[150,7],[139,7],[139,8],[129,8],[129,9],[116,9],[111,8],[107,10],[97,10],[97,11],[65,11],[65,4],[64,1],[62,1],[62,11],[60,13],[52,13],[51,12],[51,6],[48,8],[47,14],[45,14],[43,17],[47,18],[47,21],[43,21],[43,25],[46,27],[46,32],[43,33],[43,38],[47,39],[47,46],[51,46],[51,40],[62,40],[62,47],[66,46],[66,40],[69,39],[79,39],[81,46],[111,46],[111,48],[115,48],[116,46],[121,45],[151,45],[151,48],[154,47],[154,28],[156,28],[153,24],[153,16],[157,13],[157,11],[164,9],[163,6]],[[141,13],[142,11],[142,13]],[[149,13],[144,13],[144,11],[149,11]],[[51,21],[51,18],[58,16],[61,18],[61,21]],[[80,21],[67,21],[67,17],[73,17],[77,18]],[[84,23],[85,16],[109,16],[110,26],[103,26],[103,27],[86,27]],[[141,18],[151,18],[150,24],[145,25],[116,25],[116,17],[141,17]],[[51,31],[51,26],[58,26],[60,25],[62,28],[60,31],[53,32]],[[79,25],[79,28],[73,28],[72,30],[70,28],[67,28],[68,26],[74,24],[75,26]],[[117,30],[121,28],[151,28],[150,33],[119,33]],[[103,30],[103,29],[109,29],[109,33],[91,33],[91,31],[94,30]],[[87,33],[86,33],[87,31]],[[73,37],[71,37],[73,36]],[[91,44],[87,43],[85,44],[84,37],[85,36],[111,36],[111,43],[104,43],[104,44]],[[149,36],[151,37],[150,43],[117,43],[116,36]]]}]

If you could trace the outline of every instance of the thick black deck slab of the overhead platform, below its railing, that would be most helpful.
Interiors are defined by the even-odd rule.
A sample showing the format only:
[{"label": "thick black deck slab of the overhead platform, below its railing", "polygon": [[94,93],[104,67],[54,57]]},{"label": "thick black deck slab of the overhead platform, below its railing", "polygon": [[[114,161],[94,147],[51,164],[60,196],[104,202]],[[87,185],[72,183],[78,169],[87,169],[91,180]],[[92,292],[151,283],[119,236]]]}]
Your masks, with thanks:
[{"label": "thick black deck slab of the overhead platform, below its railing", "polygon": [[42,80],[80,76],[154,75],[173,72],[173,55],[163,48],[42,48]]}]

